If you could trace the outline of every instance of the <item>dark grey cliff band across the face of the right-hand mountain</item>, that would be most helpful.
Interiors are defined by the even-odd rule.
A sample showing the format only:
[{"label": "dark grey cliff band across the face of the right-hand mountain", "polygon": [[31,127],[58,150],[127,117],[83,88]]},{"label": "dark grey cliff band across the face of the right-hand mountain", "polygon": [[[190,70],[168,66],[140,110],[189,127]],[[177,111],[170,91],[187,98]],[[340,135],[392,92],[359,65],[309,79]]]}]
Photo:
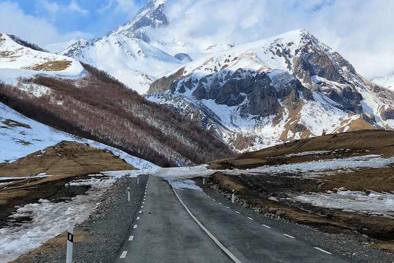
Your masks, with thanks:
[{"label": "dark grey cliff band across the face of the right-hand mountain", "polygon": [[265,72],[238,69],[235,72],[216,72],[197,80],[193,77],[178,79],[182,70],[169,77],[156,80],[149,92],[185,93],[193,90],[197,100],[214,100],[216,104],[241,106],[241,115],[268,116],[278,114],[281,110],[280,100],[291,98],[298,102],[301,96],[313,100],[312,92],[299,80],[283,72],[271,78]]}]

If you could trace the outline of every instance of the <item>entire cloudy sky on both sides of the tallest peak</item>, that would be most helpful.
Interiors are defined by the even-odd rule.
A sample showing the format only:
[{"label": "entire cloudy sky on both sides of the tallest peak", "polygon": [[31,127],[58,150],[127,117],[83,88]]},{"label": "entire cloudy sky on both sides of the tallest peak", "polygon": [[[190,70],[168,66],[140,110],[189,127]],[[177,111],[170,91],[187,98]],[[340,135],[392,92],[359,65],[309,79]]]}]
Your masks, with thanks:
[{"label": "entire cloudy sky on both sides of the tallest peak", "polygon": [[[0,0],[0,32],[45,47],[104,36],[148,0]],[[243,44],[306,29],[367,78],[394,71],[394,1],[168,0],[179,37]],[[182,21],[181,21],[182,20]],[[182,34],[182,35],[181,35]]]}]

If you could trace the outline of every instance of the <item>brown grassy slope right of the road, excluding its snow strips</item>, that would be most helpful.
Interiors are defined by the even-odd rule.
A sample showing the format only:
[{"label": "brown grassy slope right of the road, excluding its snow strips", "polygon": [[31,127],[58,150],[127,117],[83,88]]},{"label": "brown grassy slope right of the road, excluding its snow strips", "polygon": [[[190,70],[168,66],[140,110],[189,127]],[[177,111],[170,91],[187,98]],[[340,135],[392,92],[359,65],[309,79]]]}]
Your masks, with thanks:
[{"label": "brown grassy slope right of the road, excluding its snow strips", "polygon": [[[324,154],[310,153],[303,156],[291,154],[311,151],[329,151]],[[257,152],[217,160],[211,168],[253,168],[263,165],[301,163],[322,159],[342,159],[363,155],[394,156],[394,132],[363,130],[295,140]],[[227,196],[235,189],[240,200],[263,214],[275,215],[290,221],[307,224],[326,232],[356,233],[373,238],[374,246],[394,251],[394,221],[391,218],[344,212],[313,206],[290,200],[297,193],[336,192],[340,187],[350,191],[390,193],[394,190],[393,165],[383,168],[363,168],[348,173],[303,178],[293,173],[255,174],[216,173],[211,177],[214,187]],[[394,208],[393,211],[394,212]]]}]

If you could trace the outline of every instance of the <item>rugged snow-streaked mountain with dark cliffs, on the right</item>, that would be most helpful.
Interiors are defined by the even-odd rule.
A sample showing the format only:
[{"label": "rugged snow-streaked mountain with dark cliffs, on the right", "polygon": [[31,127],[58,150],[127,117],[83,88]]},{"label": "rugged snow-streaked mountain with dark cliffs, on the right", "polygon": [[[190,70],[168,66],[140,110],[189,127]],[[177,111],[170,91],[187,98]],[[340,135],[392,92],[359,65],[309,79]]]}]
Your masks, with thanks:
[{"label": "rugged snow-streaked mountain with dark cliffs, on the right", "polygon": [[394,128],[394,92],[359,76],[306,30],[232,47],[156,80],[146,98],[238,151],[353,129]]}]

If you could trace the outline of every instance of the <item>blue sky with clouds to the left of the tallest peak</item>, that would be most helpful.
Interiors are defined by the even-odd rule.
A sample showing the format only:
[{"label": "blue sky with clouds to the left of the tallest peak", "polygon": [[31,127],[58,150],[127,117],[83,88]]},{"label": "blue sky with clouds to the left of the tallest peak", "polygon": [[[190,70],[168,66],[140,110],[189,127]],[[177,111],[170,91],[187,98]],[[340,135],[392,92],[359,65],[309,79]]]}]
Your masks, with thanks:
[{"label": "blue sky with clouds to the left of the tallest peak", "polygon": [[[45,46],[91,39],[123,24],[147,0],[0,0],[0,31]],[[51,36],[49,35],[52,34]]]}]

